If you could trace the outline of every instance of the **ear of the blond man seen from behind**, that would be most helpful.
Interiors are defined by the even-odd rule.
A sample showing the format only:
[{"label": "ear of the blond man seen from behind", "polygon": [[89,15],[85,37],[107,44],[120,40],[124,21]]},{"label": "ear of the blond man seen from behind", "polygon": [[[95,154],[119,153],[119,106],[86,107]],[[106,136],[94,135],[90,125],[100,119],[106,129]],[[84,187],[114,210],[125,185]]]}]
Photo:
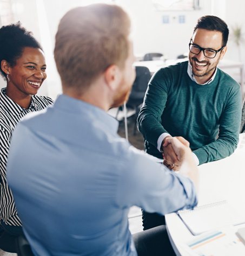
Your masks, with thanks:
[{"label": "ear of the blond man seen from behind", "polygon": [[116,65],[109,66],[104,72],[104,79],[107,85],[114,90],[121,81],[122,72]]}]

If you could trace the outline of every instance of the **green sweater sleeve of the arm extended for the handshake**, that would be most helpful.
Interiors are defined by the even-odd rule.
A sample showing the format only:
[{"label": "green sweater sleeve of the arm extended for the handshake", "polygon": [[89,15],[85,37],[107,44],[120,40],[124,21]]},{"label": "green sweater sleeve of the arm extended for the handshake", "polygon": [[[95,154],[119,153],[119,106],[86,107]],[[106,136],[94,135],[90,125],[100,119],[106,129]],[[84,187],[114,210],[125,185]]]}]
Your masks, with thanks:
[{"label": "green sweater sleeve of the arm extended for the handshake", "polygon": [[168,98],[168,88],[171,83],[165,68],[157,71],[151,78],[144,103],[137,118],[138,130],[145,140],[157,148],[157,139],[164,132],[162,126],[162,113]]}]

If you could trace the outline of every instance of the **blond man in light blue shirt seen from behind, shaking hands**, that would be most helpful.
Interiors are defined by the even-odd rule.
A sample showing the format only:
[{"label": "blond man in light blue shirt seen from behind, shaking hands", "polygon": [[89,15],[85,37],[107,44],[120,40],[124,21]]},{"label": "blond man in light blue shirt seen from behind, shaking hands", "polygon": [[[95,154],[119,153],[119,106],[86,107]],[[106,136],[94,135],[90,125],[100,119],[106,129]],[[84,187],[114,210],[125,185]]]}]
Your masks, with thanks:
[{"label": "blond man in light blue shirt seen from behind, shaking hands", "polygon": [[[63,94],[17,126],[8,162],[35,255],[137,255],[131,206],[167,214],[197,204],[198,172],[186,140],[166,141],[185,163],[176,174],[118,136],[118,122],[107,114],[128,99],[135,79],[129,35],[129,17],[116,5],[75,8],[59,23],[55,60]],[[165,253],[173,255],[169,241]]]}]

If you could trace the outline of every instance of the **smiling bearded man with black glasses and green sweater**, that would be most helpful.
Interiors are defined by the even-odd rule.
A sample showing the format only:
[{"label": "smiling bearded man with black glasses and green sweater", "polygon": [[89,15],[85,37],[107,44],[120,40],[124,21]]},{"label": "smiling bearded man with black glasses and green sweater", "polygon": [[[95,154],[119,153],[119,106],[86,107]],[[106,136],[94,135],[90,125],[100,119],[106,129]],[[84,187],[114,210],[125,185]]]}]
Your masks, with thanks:
[{"label": "smiling bearded man with black glasses and green sweater", "polygon": [[[190,143],[197,165],[234,152],[241,124],[241,88],[217,68],[227,51],[229,29],[216,16],[198,19],[189,42],[189,61],[161,68],[151,78],[139,113],[138,129],[150,155],[164,158],[179,170],[168,137],[182,136]],[[143,211],[144,229],[158,226],[164,217]]]}]

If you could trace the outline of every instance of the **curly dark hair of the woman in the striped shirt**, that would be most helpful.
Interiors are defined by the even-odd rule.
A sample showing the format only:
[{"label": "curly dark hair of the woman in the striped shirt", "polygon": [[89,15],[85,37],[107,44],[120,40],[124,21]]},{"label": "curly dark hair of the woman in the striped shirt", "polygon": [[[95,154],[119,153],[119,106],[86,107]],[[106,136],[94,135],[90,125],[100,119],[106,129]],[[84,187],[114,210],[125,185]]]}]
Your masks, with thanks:
[{"label": "curly dark hair of the woman in the striped shirt", "polygon": [[[21,22],[6,25],[0,29],[0,62],[6,60],[11,67],[14,67],[16,60],[22,56],[25,47],[43,50],[32,33],[21,26]],[[6,79],[6,74],[2,68],[0,72]]]}]

